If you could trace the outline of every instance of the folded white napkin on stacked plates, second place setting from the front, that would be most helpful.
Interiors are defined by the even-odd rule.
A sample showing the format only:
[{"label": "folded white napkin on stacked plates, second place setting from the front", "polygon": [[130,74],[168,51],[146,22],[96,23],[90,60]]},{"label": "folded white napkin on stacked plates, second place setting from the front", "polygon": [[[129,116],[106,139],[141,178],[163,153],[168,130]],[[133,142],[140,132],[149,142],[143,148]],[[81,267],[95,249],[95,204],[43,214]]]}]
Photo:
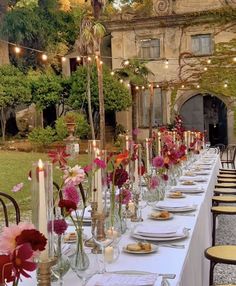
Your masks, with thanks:
[{"label": "folded white napkin on stacked plates, second place setting from the front", "polygon": [[135,233],[149,237],[173,237],[177,235],[176,227],[155,227],[148,225],[139,226]]}]

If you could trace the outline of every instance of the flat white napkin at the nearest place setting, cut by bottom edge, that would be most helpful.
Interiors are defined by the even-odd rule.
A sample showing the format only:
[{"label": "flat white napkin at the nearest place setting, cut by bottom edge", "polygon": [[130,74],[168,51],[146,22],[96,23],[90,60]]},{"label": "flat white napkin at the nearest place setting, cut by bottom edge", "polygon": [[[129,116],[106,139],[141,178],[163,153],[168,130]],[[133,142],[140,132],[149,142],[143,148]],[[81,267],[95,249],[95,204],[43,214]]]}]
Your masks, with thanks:
[{"label": "flat white napkin at the nearest place setting, cut by bottom edge", "polygon": [[116,274],[95,275],[88,286],[151,286],[155,284],[157,274]]}]

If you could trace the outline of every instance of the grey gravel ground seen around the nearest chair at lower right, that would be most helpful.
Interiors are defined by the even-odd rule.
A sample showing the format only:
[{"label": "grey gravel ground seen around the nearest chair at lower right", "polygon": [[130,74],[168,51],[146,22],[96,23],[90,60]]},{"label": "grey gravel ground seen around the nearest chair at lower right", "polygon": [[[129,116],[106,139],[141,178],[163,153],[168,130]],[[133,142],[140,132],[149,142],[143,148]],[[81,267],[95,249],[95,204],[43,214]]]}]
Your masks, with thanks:
[{"label": "grey gravel ground seen around the nearest chair at lower right", "polygon": [[[234,215],[220,215],[216,231],[216,244],[236,244],[236,218]],[[214,281],[218,284],[236,284],[236,266],[217,264]],[[204,285],[205,286],[205,285]]]}]

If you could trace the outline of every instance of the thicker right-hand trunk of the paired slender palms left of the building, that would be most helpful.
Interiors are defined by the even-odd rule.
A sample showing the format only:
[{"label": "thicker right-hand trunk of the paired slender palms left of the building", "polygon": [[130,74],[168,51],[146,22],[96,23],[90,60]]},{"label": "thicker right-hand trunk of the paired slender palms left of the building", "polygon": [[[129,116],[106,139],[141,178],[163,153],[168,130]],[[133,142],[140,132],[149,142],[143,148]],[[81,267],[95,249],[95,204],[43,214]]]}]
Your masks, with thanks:
[{"label": "thicker right-hand trunk of the paired slender palms left of the building", "polygon": [[100,140],[101,148],[105,149],[105,107],[104,107],[104,94],[103,94],[103,73],[102,64],[100,63],[100,57],[97,57],[97,73],[98,73],[98,96],[99,96],[99,127],[100,127]]}]

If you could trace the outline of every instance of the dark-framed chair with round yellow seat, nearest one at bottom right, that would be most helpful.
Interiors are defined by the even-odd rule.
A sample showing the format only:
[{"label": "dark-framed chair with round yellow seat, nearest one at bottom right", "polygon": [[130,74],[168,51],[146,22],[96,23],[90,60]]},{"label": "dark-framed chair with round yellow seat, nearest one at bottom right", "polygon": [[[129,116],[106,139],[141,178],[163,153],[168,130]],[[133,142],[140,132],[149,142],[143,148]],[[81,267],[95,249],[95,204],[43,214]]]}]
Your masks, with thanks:
[{"label": "dark-framed chair with round yellow seat, nearest one at bottom right", "polygon": [[[236,245],[212,246],[207,248],[204,254],[205,257],[210,260],[210,279],[209,279],[210,286],[211,285],[213,286],[214,268],[217,263],[236,265]],[[233,285],[227,284],[225,286],[233,286]]]}]

